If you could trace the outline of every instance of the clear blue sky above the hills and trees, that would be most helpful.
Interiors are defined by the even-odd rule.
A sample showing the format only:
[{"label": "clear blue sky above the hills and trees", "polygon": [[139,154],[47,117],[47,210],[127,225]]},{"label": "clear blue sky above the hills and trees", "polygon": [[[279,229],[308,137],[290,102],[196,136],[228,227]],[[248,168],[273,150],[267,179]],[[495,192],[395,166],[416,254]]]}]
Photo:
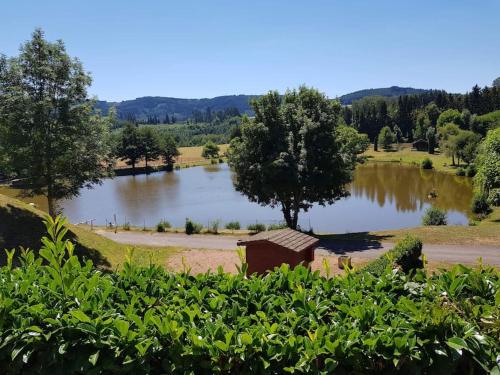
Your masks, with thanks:
[{"label": "clear blue sky above the hills and trees", "polygon": [[498,0],[12,0],[0,53],[35,27],[92,73],[103,100],[392,85],[465,92],[500,76]]}]

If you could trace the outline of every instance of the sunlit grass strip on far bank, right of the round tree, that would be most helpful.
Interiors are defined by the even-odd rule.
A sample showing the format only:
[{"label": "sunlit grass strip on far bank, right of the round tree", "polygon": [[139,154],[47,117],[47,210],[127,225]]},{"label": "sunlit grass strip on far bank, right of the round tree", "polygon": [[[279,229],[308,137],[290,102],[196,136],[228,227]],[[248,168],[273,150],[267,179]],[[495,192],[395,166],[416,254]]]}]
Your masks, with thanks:
[{"label": "sunlit grass strip on far bank, right of the round tree", "polygon": [[437,171],[455,173],[458,168],[457,166],[451,165],[451,158],[440,154],[438,151],[431,155],[428,152],[412,150],[411,143],[401,143],[399,146],[394,145],[392,151],[383,151],[382,149],[374,151],[373,145],[371,145],[364,153],[364,156],[370,161],[394,162],[417,166],[420,166],[422,160],[429,158],[432,160],[433,167]]}]

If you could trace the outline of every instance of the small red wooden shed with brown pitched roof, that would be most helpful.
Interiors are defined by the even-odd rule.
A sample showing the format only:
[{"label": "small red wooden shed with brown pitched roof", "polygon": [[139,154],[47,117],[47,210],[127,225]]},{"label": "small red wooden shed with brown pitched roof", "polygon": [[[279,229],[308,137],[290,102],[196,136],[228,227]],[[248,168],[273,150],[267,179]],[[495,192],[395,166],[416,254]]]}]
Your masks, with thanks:
[{"label": "small red wooden shed with brown pitched roof", "polygon": [[274,267],[287,263],[290,267],[308,265],[314,260],[314,249],[319,240],[293,229],[279,229],[261,232],[238,246],[246,246],[248,274],[263,274]]}]

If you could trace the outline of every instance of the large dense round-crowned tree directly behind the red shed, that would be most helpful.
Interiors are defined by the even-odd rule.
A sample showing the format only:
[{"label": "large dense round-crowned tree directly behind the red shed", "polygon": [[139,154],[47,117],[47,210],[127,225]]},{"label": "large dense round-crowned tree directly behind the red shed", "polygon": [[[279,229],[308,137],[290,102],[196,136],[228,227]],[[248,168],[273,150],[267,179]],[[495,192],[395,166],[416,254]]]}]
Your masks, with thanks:
[{"label": "large dense round-crowned tree directly behind the red shed", "polygon": [[238,191],[253,202],[280,207],[290,228],[297,227],[300,210],[348,195],[353,154],[364,150],[348,146],[352,133],[339,129],[337,101],[301,87],[283,96],[269,92],[252,107],[255,118],[243,121],[242,135],[229,149]]}]

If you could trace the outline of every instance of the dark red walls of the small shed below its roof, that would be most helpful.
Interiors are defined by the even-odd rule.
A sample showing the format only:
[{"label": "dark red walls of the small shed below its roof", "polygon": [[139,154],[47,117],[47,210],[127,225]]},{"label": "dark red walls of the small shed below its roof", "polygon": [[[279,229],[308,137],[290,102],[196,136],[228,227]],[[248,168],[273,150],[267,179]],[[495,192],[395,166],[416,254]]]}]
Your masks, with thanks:
[{"label": "dark red walls of the small shed below its roof", "polygon": [[246,246],[246,260],[249,275],[254,272],[265,273],[283,263],[295,267],[302,262],[312,262],[314,249],[308,248],[297,252],[269,242],[253,243]]}]

